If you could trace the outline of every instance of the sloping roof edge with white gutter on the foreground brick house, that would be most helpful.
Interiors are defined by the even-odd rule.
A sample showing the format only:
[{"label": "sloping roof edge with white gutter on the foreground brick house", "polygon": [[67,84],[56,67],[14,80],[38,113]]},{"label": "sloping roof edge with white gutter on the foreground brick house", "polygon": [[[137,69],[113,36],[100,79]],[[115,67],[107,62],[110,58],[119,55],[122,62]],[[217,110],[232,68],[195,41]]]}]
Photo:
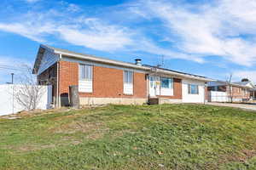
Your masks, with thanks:
[{"label": "sloping roof edge with white gutter on the foreground brick house", "polygon": [[77,58],[77,59],[86,59],[86,60],[111,64],[111,65],[120,65],[120,66],[124,66],[124,67],[128,67],[128,68],[135,68],[135,69],[143,70],[143,71],[152,71],[153,68],[154,69],[156,68],[157,71],[160,73],[172,74],[177,77],[187,77],[187,78],[191,78],[191,79],[201,80],[204,82],[213,81],[212,79],[207,78],[207,77],[201,77],[198,75],[189,74],[189,73],[185,73],[185,72],[181,72],[181,71],[173,71],[173,70],[166,69],[166,68],[155,67],[153,65],[136,65],[135,63],[118,61],[118,60],[113,60],[113,59],[106,59],[106,58],[94,56],[91,54],[76,53],[73,51],[69,51],[67,49],[54,48],[49,45],[40,45],[40,48],[38,50],[38,56],[37,56],[37,59],[36,59],[35,65],[34,65],[33,73],[37,73],[37,71],[38,71],[38,65],[40,65],[40,60],[42,59],[42,52],[43,52],[42,48],[49,49],[49,50],[53,51],[55,54],[61,54],[61,55],[65,55],[65,56]]}]

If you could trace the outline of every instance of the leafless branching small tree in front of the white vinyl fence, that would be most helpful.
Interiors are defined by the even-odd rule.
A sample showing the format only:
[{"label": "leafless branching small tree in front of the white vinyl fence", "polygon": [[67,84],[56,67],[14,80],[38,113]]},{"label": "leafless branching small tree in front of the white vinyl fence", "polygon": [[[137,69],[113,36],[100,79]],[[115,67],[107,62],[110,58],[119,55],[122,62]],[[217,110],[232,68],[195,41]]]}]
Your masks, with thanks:
[{"label": "leafless branching small tree in front of the white vinyl fence", "polygon": [[14,85],[15,101],[26,111],[37,109],[44,90],[38,86],[37,77],[32,74],[32,67],[23,65],[24,71],[20,74],[18,82],[20,85]]}]

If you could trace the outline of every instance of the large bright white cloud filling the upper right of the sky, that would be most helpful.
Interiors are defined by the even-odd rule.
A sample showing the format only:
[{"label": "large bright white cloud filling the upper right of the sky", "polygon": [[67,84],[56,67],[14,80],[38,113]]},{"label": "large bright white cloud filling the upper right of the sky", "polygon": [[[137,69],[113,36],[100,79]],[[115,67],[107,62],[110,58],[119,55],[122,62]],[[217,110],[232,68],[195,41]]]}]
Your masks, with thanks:
[{"label": "large bright white cloud filling the upper right of the sky", "polygon": [[242,35],[256,37],[255,8],[253,0],[219,0],[199,6],[148,0],[141,12],[160,19],[169,36],[179,37],[176,46],[184,54],[218,55],[249,66],[256,62],[256,41]]}]

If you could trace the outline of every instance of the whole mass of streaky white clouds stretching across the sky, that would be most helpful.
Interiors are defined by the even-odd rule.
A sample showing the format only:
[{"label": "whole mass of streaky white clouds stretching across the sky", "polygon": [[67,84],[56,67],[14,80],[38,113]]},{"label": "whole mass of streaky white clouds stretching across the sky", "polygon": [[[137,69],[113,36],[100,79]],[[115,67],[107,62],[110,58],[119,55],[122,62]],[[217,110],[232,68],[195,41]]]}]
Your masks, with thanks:
[{"label": "whole mass of streaky white clouds stretching across the sky", "polygon": [[[81,12],[82,8],[64,1],[60,4],[62,10],[49,9],[50,12],[45,14],[28,12],[20,15],[19,20],[0,23],[0,30],[38,42],[47,43],[49,37],[55,37],[73,45],[108,52],[139,51],[199,63],[206,62],[207,56],[217,55],[238,65],[256,63],[256,2],[253,0],[218,0],[197,3],[197,6],[165,0],[140,0],[122,5],[121,10],[125,11],[122,14],[132,15],[134,22],[140,24],[138,27],[131,26],[131,20],[126,25],[125,21],[112,22],[112,18],[107,17],[85,17],[88,15],[85,11],[74,17],[71,13]],[[70,13],[62,12],[63,7]],[[108,13],[119,14],[111,10]],[[157,38],[147,35],[148,25],[140,22],[152,19],[158,20],[153,31],[162,36],[158,37],[159,41],[165,40],[172,45],[163,48]],[[249,38],[244,35],[249,35]]]}]

